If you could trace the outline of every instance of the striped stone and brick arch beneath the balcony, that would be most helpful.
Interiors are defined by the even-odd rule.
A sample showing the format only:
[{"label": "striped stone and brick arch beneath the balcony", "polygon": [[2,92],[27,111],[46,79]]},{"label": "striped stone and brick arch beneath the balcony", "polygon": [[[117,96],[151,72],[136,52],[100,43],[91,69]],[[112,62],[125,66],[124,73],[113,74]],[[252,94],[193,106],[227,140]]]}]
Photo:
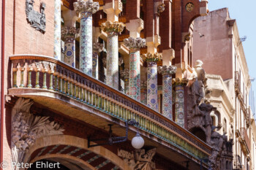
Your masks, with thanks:
[{"label": "striped stone and brick arch beneath the balcony", "polygon": [[[26,152],[24,163],[34,163],[44,158],[62,158],[80,163],[91,169],[99,166],[110,166],[112,163],[115,169],[129,170],[129,166],[115,153],[105,147],[87,147],[86,139],[69,135],[45,136],[37,139],[34,145]],[[68,156],[69,155],[69,156]],[[86,155],[90,155],[86,157]],[[95,160],[98,163],[95,163]],[[94,161],[94,163],[92,163]],[[90,166],[91,165],[91,166]]]}]

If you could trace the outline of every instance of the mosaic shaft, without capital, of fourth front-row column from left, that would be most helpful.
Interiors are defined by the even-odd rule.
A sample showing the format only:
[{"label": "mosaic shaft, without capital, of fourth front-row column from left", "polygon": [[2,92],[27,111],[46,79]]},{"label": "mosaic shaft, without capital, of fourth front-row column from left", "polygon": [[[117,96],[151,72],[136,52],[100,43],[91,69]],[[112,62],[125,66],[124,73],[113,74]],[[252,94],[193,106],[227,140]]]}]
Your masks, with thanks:
[{"label": "mosaic shaft, without capital, of fourth front-row column from left", "polygon": [[129,52],[129,96],[140,101],[140,50],[130,49]]}]

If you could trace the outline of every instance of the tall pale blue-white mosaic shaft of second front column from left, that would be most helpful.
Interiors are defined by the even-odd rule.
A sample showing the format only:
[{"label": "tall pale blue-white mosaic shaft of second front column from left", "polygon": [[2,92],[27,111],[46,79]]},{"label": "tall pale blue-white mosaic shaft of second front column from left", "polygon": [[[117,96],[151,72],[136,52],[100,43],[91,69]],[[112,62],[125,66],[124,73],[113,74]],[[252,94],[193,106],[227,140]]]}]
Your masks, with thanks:
[{"label": "tall pale blue-white mosaic shaft of second front column from left", "polygon": [[92,14],[82,12],[80,21],[80,70],[92,76]]}]

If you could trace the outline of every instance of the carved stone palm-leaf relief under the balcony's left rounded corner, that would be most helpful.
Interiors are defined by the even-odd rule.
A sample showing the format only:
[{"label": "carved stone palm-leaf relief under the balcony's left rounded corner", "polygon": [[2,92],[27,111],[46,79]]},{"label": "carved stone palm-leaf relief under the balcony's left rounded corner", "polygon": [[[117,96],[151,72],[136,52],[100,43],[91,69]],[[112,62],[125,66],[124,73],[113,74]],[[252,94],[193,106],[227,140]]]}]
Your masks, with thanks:
[{"label": "carved stone palm-leaf relief under the balcony's left rounded corner", "polygon": [[[49,117],[33,115],[29,112],[33,101],[19,98],[12,109],[12,162],[22,163],[26,151],[39,137],[63,134],[64,128],[51,122]],[[17,166],[12,167],[18,170]]]}]

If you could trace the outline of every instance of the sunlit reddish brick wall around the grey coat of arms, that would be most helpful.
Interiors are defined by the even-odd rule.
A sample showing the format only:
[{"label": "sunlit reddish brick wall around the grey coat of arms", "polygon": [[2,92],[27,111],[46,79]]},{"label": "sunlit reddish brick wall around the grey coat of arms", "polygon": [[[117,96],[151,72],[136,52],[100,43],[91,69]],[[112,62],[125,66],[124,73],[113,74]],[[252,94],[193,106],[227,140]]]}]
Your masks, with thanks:
[{"label": "sunlit reddish brick wall around the grey coat of arms", "polygon": [[[34,9],[39,12],[42,0],[34,1]],[[15,1],[15,54],[38,54],[53,56],[54,43],[54,1],[44,0],[46,4],[45,34],[36,31],[26,20],[25,1]]]}]

